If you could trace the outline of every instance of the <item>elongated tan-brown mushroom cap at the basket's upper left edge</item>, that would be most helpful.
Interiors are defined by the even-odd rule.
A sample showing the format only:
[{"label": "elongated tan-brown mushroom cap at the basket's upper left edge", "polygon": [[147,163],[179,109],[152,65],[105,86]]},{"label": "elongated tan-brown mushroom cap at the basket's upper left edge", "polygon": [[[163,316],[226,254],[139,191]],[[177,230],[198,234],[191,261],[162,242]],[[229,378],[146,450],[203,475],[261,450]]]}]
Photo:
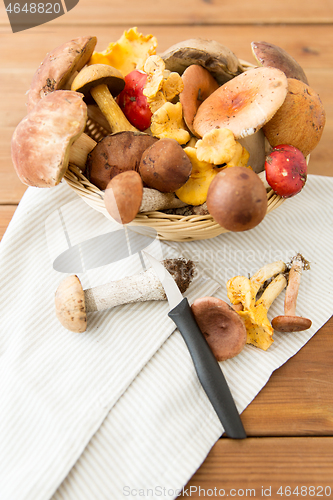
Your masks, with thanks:
[{"label": "elongated tan-brown mushroom cap at the basket's upper left edge", "polygon": [[82,36],[56,47],[47,54],[34,74],[28,91],[28,113],[47,94],[65,87],[70,77],[87,64],[96,43],[95,36]]}]

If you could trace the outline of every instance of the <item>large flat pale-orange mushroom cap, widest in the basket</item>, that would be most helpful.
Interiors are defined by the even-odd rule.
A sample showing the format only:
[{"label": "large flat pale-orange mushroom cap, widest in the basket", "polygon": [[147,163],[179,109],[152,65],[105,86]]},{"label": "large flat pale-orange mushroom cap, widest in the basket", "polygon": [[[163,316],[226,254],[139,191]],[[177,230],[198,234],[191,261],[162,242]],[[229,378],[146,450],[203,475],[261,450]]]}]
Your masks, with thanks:
[{"label": "large flat pale-orange mushroom cap, widest in the basket", "polygon": [[228,128],[236,139],[254,134],[277,112],[287,95],[286,75],[276,68],[245,71],[213,92],[199,107],[193,128],[204,136]]}]

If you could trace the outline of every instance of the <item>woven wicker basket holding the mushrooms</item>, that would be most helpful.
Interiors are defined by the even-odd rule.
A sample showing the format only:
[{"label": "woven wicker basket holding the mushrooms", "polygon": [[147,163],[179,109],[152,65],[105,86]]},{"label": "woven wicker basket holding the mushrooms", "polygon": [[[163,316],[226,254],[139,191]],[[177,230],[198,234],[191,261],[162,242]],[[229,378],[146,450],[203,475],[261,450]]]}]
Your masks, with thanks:
[{"label": "woven wicker basket holding the mushrooms", "polygon": [[[245,69],[254,67],[246,61],[241,60],[241,63]],[[87,121],[86,133],[98,142],[109,132],[90,117]],[[80,169],[70,164],[65,180],[88,205],[111,219],[104,206],[103,191],[91,184]],[[284,201],[273,190],[267,192],[267,199],[267,213],[278,208]],[[172,241],[202,240],[228,232],[227,229],[217,224],[211,215],[182,216],[156,211],[138,214],[129,225],[154,228],[159,239]]]}]

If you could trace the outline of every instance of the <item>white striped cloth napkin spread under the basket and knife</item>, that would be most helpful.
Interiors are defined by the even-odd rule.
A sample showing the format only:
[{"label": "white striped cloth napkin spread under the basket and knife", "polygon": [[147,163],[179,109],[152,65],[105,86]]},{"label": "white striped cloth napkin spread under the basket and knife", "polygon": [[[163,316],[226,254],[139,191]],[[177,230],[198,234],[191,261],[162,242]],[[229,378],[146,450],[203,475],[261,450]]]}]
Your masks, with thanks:
[{"label": "white striped cloth napkin spread under the basket and knife", "polygon": [[[226,299],[230,277],[297,252],[310,261],[297,312],[312,319],[312,328],[275,333],[267,352],[246,346],[221,363],[239,411],[332,314],[332,188],[332,178],[309,176],[301,194],[251,231],[153,242],[149,249],[199,263],[190,300]],[[0,498],[176,498],[223,429],[179,332],[171,335],[166,303],[94,313],[85,334],[59,325],[54,292],[63,275],[52,268],[56,254],[110,229],[84,205],[66,185],[29,188],[0,245]],[[58,234],[59,210],[66,234],[58,238],[52,227]],[[140,269],[133,255],[80,278],[88,288]],[[281,296],[270,316],[282,311]]]}]

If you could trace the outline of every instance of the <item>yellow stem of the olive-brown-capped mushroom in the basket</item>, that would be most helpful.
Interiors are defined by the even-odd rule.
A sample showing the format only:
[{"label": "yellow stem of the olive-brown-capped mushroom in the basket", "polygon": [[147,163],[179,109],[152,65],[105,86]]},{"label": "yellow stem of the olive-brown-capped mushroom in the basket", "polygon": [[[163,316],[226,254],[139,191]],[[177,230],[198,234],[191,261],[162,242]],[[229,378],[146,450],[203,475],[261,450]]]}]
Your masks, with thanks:
[{"label": "yellow stem of the olive-brown-capped mushroom in the basket", "polygon": [[112,133],[124,130],[138,132],[138,129],[127,120],[105,83],[91,88],[90,93],[107,119]]}]

